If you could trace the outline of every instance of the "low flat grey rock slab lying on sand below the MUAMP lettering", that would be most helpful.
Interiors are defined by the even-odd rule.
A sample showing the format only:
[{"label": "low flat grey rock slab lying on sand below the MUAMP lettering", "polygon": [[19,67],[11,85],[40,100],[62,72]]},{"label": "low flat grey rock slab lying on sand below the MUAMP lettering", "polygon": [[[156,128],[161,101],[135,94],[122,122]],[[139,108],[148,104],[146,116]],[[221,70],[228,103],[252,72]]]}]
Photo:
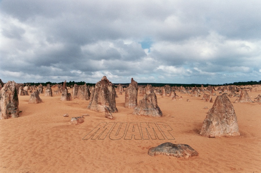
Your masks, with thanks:
[{"label": "low flat grey rock slab lying on sand below the MUAMP lettering", "polygon": [[192,156],[198,156],[196,150],[186,144],[173,144],[170,142],[163,143],[157,147],[152,147],[148,150],[148,155],[165,155],[173,156],[177,158],[189,158]]}]

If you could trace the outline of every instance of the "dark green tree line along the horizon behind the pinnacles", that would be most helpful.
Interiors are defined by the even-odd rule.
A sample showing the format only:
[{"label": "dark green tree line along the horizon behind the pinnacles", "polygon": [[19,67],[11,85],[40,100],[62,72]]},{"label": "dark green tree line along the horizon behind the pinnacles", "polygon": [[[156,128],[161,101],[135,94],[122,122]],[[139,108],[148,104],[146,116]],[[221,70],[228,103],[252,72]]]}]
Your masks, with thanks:
[{"label": "dark green tree line along the horizon behind the pinnacles", "polygon": [[[29,83],[23,83],[24,85],[40,85],[42,84],[43,86],[46,86],[47,84],[50,84],[50,85],[56,85],[56,84],[64,84],[64,82],[60,82],[60,83],[55,83],[55,82],[46,82],[46,83],[34,83],[34,82],[29,82]],[[70,86],[70,85],[74,85],[74,84],[77,84],[77,85],[84,85],[85,82],[83,81],[80,81],[80,82],[75,82],[75,81],[69,81],[69,82],[66,82],[66,85],[67,86]],[[121,83],[122,85],[129,85],[129,83]],[[209,85],[211,86],[221,86],[221,84],[218,84],[218,85],[213,85],[213,84],[195,84],[195,83],[191,83],[191,84],[184,84],[184,83],[138,83],[138,85],[144,85],[144,86],[147,86],[147,85],[151,85],[153,87],[162,87],[162,86],[165,86],[165,85],[170,85],[171,87],[172,86],[177,86],[177,87],[180,87],[180,86],[184,86],[184,87],[201,87],[201,85],[203,85],[204,87],[207,87]],[[248,81],[248,82],[234,82],[234,83],[224,83],[223,85],[258,85],[258,84],[261,84],[261,80],[260,81]],[[94,86],[95,83],[86,83],[86,85],[90,85],[90,86]],[[114,83],[114,85],[119,85],[119,83]]]}]

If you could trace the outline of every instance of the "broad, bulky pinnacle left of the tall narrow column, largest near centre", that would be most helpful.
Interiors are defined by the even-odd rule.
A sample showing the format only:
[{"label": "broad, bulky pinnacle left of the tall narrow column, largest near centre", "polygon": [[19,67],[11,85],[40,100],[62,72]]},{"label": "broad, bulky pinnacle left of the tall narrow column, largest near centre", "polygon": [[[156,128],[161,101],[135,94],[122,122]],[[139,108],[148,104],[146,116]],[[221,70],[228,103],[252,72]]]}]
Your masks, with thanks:
[{"label": "broad, bulky pinnacle left of the tall narrow column, largest near centre", "polygon": [[97,82],[91,93],[90,104],[87,109],[96,112],[105,112],[105,107],[108,107],[110,112],[118,112],[115,102],[115,88],[113,84],[106,78],[102,77],[101,81]]}]

